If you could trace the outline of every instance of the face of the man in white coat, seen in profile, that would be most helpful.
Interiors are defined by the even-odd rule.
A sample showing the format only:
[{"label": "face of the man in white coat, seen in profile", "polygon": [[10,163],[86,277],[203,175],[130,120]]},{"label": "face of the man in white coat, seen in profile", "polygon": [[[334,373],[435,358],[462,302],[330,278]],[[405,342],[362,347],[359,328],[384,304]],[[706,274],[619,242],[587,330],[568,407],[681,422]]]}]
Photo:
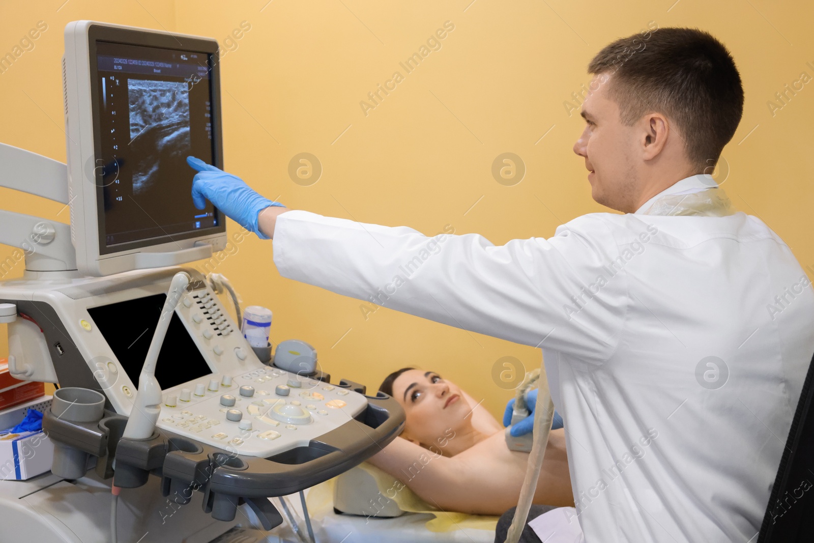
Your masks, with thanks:
[{"label": "face of the man in white coat, seen in profile", "polygon": [[636,138],[634,127],[619,119],[619,105],[608,98],[612,77],[597,74],[591,80],[581,111],[585,129],[574,152],[585,160],[593,199],[617,211],[634,212],[639,199]]}]

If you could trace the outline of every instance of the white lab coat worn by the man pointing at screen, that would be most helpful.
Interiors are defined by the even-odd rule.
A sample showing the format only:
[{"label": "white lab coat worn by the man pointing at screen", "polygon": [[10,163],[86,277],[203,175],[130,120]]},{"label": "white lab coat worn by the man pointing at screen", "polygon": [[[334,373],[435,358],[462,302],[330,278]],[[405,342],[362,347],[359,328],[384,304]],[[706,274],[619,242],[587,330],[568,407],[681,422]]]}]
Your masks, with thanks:
[{"label": "white lab coat worn by the man pointing at screen", "polygon": [[758,218],[641,214],[656,198],[501,247],[291,211],[274,263],[542,348],[588,543],[755,541],[814,353],[812,287]]}]

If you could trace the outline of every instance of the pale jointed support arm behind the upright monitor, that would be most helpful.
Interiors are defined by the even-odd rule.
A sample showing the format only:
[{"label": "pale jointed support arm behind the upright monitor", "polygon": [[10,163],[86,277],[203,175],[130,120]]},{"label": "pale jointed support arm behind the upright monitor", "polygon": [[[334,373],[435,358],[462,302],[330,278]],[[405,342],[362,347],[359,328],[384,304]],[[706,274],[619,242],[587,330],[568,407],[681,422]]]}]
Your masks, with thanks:
[{"label": "pale jointed support arm behind the upright monitor", "polygon": [[[0,143],[0,164],[0,186],[52,199],[68,208],[65,164],[5,143]],[[71,227],[63,222],[0,210],[0,243],[19,249],[0,262],[0,278],[21,260],[26,277],[78,275]]]}]

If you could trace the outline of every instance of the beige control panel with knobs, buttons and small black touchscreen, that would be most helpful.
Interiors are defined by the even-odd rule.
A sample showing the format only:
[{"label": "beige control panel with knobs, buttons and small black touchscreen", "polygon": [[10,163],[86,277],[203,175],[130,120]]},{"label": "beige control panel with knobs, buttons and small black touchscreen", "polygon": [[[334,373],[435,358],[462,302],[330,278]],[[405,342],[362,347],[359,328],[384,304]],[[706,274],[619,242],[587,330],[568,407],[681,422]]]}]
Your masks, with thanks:
[{"label": "beige control panel with knobs, buttons and small black touchscreen", "polygon": [[[365,396],[266,366],[195,269],[138,270],[43,285],[11,281],[0,298],[46,333],[51,360],[28,379],[56,374],[61,387],[103,392],[107,409],[129,416],[168,285],[179,270],[191,282],[174,311],[155,378],[162,389],[157,431],[268,458],[348,423]],[[50,339],[44,339],[45,337]],[[42,357],[39,357],[42,360]]]}]

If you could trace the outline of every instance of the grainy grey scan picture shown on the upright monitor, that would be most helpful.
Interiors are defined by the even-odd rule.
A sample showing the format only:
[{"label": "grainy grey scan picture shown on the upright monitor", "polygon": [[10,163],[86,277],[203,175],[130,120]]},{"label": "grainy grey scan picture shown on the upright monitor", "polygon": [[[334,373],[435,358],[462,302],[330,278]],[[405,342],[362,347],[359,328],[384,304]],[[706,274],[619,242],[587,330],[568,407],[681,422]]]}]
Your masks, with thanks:
[{"label": "grainy grey scan picture shown on the upright monitor", "polygon": [[133,194],[155,186],[162,164],[190,154],[190,93],[186,82],[127,80],[130,142],[138,157]]}]

